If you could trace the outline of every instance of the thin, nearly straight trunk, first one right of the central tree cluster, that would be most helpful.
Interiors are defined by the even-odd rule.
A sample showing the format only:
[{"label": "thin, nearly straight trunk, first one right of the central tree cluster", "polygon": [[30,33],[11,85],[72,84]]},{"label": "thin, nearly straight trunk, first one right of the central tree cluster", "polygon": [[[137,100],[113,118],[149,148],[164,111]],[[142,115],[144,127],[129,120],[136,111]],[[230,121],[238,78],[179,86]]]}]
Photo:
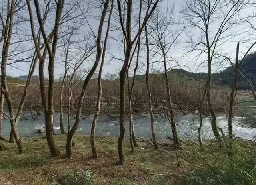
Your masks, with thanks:
[{"label": "thin, nearly straight trunk, first one right of the central tree cluster", "polygon": [[149,45],[148,45],[147,25],[145,25],[145,35],[146,35],[146,47],[147,47],[146,84],[147,84],[147,89],[148,89],[148,99],[149,99],[149,108],[150,108],[151,133],[152,133],[154,148],[158,149],[158,144],[156,142],[156,134],[155,134],[155,129],[154,129],[154,115],[153,115],[153,110],[152,110],[152,97],[151,97],[150,85],[149,85],[149,80],[148,80],[148,75],[149,75]]}]

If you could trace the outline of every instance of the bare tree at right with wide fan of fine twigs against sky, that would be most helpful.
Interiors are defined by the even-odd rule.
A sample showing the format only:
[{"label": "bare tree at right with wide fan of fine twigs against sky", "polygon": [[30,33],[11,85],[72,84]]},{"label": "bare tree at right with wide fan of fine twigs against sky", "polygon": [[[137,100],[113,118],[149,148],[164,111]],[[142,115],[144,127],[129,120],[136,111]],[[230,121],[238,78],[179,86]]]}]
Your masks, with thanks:
[{"label": "bare tree at right with wide fan of fine twigs against sky", "polygon": [[[246,6],[248,0],[186,0],[182,10],[185,18],[187,30],[192,33],[192,29],[200,33],[189,38],[189,51],[198,52],[198,56],[206,55],[208,65],[208,77],[206,84],[207,106],[210,112],[212,131],[215,138],[220,140],[216,114],[211,100],[211,79],[212,65],[218,59],[220,45],[240,34],[239,31],[230,34],[233,28],[240,23],[238,13]],[[188,35],[191,35],[188,33]]]}]

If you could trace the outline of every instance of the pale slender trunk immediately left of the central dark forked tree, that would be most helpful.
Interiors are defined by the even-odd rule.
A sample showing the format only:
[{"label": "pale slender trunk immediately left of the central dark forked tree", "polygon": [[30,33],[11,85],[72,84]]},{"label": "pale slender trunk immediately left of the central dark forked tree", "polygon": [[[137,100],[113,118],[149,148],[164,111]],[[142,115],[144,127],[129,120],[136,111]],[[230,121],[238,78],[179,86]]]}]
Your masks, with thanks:
[{"label": "pale slender trunk immediately left of the central dark forked tree", "polygon": [[94,118],[93,118],[93,121],[92,121],[92,128],[91,128],[90,141],[91,141],[91,146],[92,146],[92,157],[93,158],[98,158],[97,149],[96,149],[96,146],[95,146],[95,127],[96,127],[96,123],[97,123],[97,120],[98,120],[98,116],[100,114],[100,100],[101,100],[101,96],[102,96],[101,75],[102,75],[102,69],[103,69],[103,66],[104,66],[106,45],[107,45],[107,41],[108,41],[108,32],[109,32],[109,28],[110,28],[110,20],[111,20],[113,5],[114,5],[114,0],[112,0],[111,9],[110,9],[110,13],[109,13],[109,16],[108,16],[108,28],[107,28],[106,35],[105,35],[103,51],[102,51],[102,60],[101,60],[100,71],[99,71],[99,75],[98,75],[98,97],[97,97],[96,112],[94,114]]}]

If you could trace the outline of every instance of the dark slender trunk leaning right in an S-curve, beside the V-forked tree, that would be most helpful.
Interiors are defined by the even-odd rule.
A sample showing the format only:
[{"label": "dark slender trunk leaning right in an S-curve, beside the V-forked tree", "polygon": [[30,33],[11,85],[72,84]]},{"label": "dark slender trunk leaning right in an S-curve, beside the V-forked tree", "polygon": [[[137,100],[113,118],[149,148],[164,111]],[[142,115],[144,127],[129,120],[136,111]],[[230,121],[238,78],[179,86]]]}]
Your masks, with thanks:
[{"label": "dark slender trunk leaning right in an S-curve, beside the V-forked tree", "polygon": [[74,126],[71,128],[70,132],[68,132],[67,143],[66,143],[66,154],[67,154],[68,158],[72,157],[71,141],[72,141],[72,137],[74,136],[74,134],[76,132],[76,129],[78,128],[78,125],[80,123],[80,116],[81,116],[81,111],[82,111],[84,94],[85,94],[85,91],[87,89],[88,83],[89,83],[92,75],[96,71],[96,69],[98,67],[98,63],[100,61],[100,57],[101,57],[101,53],[102,53],[102,48],[101,48],[102,27],[103,27],[103,24],[104,24],[104,20],[105,20],[105,16],[106,16],[106,12],[107,12],[107,9],[108,9],[109,2],[110,2],[110,0],[105,1],[104,9],[102,11],[102,15],[101,15],[101,18],[100,18],[100,25],[99,25],[99,28],[98,28],[98,35],[97,35],[97,38],[96,38],[96,43],[97,43],[96,59],[95,59],[95,62],[94,62],[94,65],[93,65],[92,69],[90,70],[90,72],[88,73],[88,75],[86,76],[86,78],[84,80],[83,89],[82,89],[80,97],[79,97],[78,108],[77,108],[77,111],[76,111],[76,121],[74,123]]}]

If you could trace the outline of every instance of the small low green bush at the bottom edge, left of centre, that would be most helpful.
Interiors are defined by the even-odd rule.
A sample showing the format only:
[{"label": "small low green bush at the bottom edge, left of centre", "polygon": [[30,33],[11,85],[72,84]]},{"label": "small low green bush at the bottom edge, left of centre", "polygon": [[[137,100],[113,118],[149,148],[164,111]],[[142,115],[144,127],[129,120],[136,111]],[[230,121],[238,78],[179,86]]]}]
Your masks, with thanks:
[{"label": "small low green bush at the bottom edge, left of centre", "polygon": [[93,185],[94,175],[90,170],[74,169],[65,173],[62,181],[64,185]]}]

